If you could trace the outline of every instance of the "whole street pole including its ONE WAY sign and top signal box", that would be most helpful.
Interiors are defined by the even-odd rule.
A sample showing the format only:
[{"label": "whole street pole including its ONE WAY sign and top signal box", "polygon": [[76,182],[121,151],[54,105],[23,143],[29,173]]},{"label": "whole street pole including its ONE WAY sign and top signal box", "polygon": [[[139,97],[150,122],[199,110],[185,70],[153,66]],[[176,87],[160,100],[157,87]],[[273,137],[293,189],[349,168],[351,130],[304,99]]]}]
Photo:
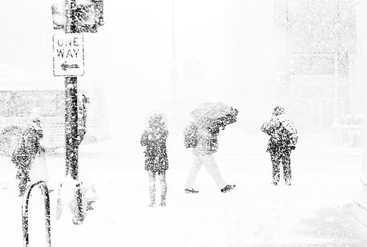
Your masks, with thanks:
[{"label": "whole street pole including its ONE WAY sign and top signal box", "polygon": [[[74,224],[82,224],[85,218],[81,182],[78,181],[78,146],[85,135],[78,131],[78,78],[84,74],[83,32],[97,32],[103,25],[103,0],[62,0],[52,4],[54,29],[63,28],[62,34],[54,34],[54,76],[65,76],[65,184],[66,191],[74,194],[72,211]],[[83,119],[84,118],[84,119]],[[85,116],[83,116],[85,123]],[[72,178],[72,180],[68,180]],[[61,188],[59,191],[61,191]],[[61,193],[60,193],[61,194]],[[58,204],[61,214],[63,202]],[[68,204],[69,202],[67,202]]]}]

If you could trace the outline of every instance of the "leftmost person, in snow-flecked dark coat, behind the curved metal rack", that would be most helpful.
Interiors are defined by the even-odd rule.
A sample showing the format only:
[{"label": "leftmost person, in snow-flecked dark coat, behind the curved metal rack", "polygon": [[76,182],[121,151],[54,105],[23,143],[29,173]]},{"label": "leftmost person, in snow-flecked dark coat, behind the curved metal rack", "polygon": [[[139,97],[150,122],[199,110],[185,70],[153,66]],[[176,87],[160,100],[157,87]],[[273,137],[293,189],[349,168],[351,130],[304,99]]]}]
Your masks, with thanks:
[{"label": "leftmost person, in snow-flecked dark coat, behind the curved metal rack", "polygon": [[12,153],[12,162],[17,168],[19,196],[23,196],[30,181],[30,167],[36,154],[42,151],[40,140],[43,138],[39,116],[31,116],[28,126],[22,133],[21,141]]}]

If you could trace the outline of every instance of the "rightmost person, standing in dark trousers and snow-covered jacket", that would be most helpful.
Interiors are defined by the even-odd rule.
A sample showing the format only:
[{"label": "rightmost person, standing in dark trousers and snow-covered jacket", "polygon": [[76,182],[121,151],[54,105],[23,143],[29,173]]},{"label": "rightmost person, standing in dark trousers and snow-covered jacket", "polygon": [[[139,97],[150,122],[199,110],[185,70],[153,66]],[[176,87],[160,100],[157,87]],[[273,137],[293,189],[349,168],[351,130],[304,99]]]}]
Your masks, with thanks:
[{"label": "rightmost person, standing in dark trousers and snow-covered jacket", "polygon": [[267,152],[270,153],[273,168],[273,185],[280,181],[280,162],[283,165],[286,185],[291,185],[291,151],[295,149],[298,136],[294,123],[284,113],[284,107],[277,106],[269,122],[264,122],[261,131],[270,136]]}]

